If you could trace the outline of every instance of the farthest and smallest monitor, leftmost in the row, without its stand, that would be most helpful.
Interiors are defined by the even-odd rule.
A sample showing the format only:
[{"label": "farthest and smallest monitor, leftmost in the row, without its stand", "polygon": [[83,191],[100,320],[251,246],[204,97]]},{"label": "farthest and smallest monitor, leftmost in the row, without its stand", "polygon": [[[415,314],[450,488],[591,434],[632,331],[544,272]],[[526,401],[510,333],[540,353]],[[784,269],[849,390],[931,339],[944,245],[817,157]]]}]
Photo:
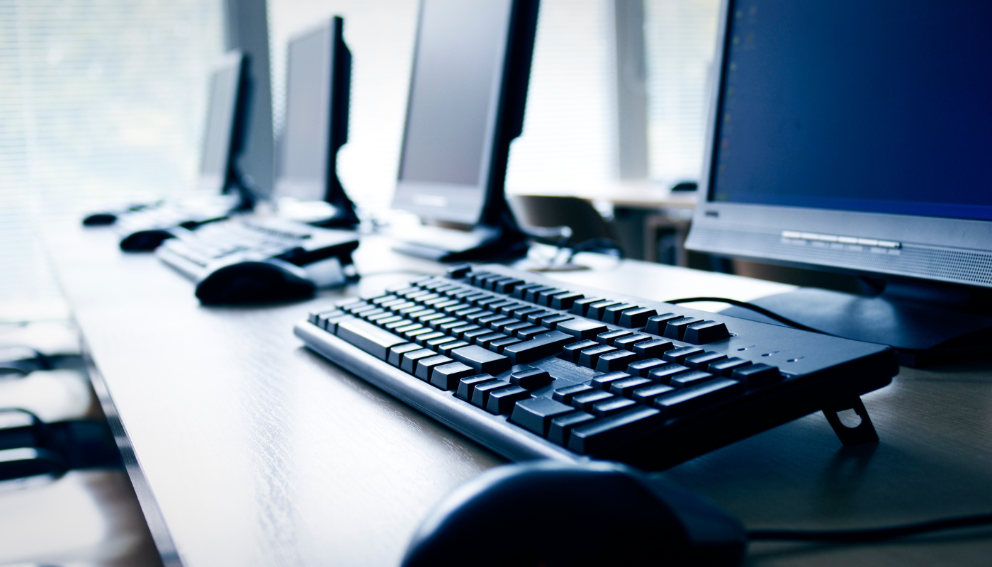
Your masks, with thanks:
[{"label": "farthest and smallest monitor, leftmost in the row, without its stand", "polygon": [[206,129],[200,159],[198,189],[224,193],[233,160],[240,151],[248,90],[247,58],[230,52],[210,74]]}]

